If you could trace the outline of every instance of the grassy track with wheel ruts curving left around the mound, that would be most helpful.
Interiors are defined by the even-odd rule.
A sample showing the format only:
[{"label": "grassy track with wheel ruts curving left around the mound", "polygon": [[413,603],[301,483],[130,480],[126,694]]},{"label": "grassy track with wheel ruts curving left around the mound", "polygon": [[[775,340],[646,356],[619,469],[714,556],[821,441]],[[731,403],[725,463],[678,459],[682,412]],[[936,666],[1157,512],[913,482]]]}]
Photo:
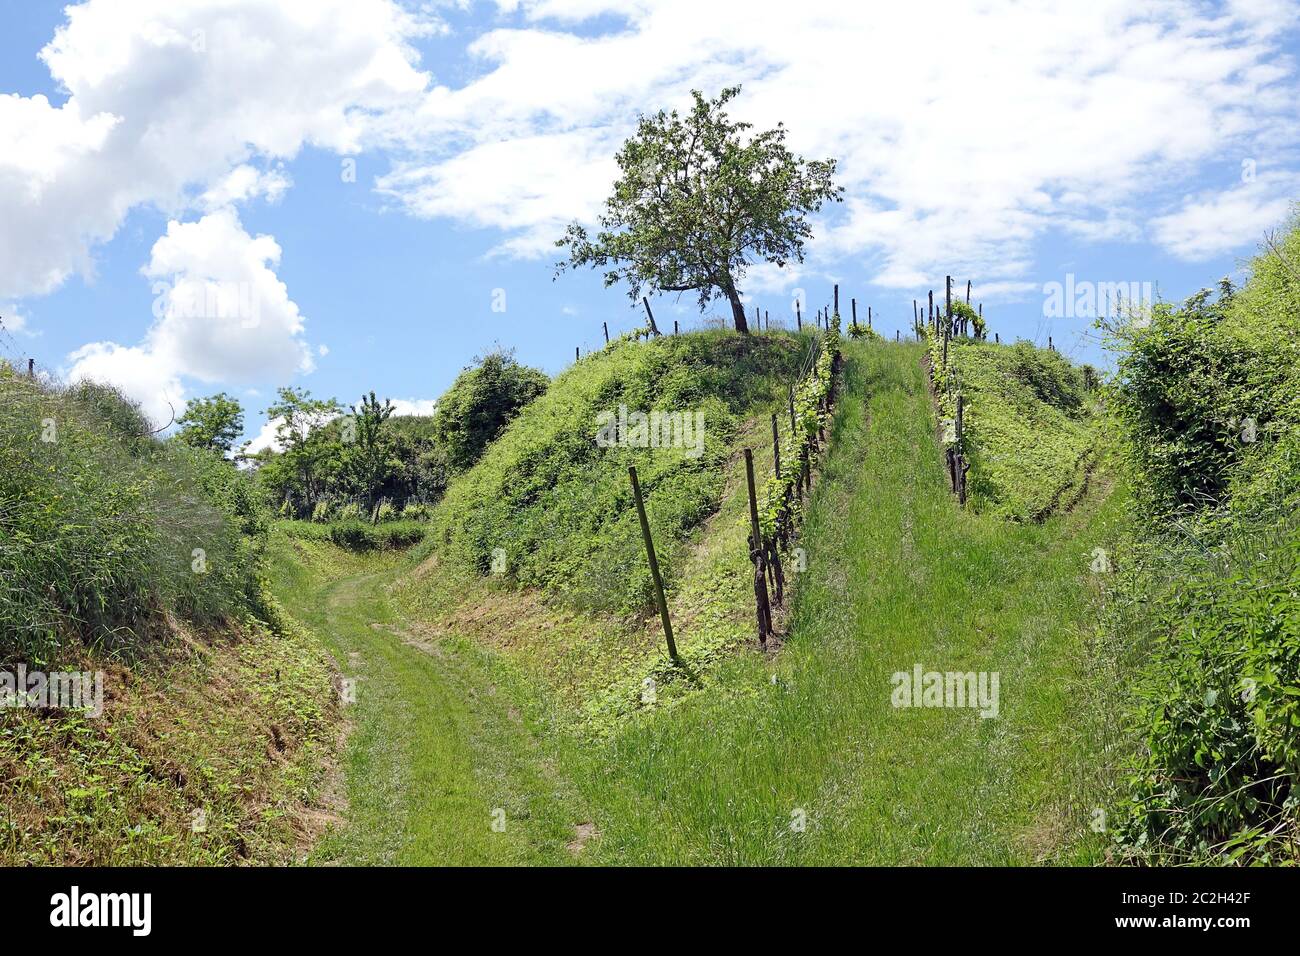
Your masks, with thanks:
[{"label": "grassy track with wheel ruts curving left around the mound", "polygon": [[[429,644],[395,619],[396,554],[272,541],[277,593],[355,679],[344,710],[346,826],[312,860],[348,865],[552,864],[586,822],[571,810],[516,701],[526,691],[467,641]],[[493,830],[495,810],[504,830]]]}]

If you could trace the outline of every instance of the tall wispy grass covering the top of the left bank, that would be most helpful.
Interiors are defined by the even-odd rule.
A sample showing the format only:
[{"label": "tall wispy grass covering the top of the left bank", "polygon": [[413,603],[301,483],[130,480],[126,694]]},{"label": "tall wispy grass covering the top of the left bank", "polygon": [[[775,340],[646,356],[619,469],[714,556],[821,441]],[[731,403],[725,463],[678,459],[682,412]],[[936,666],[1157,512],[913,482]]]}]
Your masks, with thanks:
[{"label": "tall wispy grass covering the top of the left bank", "polygon": [[0,365],[0,659],[127,648],[161,614],[252,606],[264,525],[229,463],[156,440],[110,388]]}]

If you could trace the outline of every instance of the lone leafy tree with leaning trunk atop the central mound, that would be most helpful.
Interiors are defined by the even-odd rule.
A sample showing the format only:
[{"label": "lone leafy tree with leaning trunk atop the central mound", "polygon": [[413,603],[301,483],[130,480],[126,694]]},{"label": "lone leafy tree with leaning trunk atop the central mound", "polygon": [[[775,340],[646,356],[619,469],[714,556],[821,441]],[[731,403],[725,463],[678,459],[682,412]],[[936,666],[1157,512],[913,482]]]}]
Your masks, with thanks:
[{"label": "lone leafy tree with leaning trunk atop the central mound", "polygon": [[604,269],[604,285],[627,282],[633,303],[647,291],[696,291],[701,310],[725,298],[737,332],[748,332],[738,284],[749,265],[803,261],[806,216],[844,190],[831,182],[835,160],[805,161],[785,147],[783,124],[742,135],[751,124],[723,111],[738,94],[734,86],[706,100],[693,90],[688,116],[642,116],[616,156],[621,176],[601,232],[592,239],[571,224],[555,243],[568,250],[556,276]]}]

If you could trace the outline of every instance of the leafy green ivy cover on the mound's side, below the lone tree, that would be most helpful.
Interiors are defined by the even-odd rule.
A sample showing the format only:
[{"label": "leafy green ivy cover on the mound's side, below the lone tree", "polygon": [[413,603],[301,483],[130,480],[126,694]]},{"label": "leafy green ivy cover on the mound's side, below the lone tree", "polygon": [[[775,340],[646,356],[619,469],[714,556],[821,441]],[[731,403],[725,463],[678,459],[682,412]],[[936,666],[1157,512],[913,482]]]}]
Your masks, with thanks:
[{"label": "leafy green ivy cover on the mound's side, below the lone tree", "polygon": [[[493,571],[497,557],[510,583],[578,607],[649,606],[628,466],[637,466],[672,585],[681,557],[673,545],[718,509],[722,466],[745,415],[794,380],[809,341],[706,332],[616,342],[582,359],[451,485],[429,541],[445,562],[478,574]],[[624,412],[671,414],[671,434],[681,441],[637,447],[642,436],[664,444],[668,428],[662,418],[658,429],[654,421],[641,428]],[[615,438],[610,428],[598,438],[611,424],[624,434]]]}]

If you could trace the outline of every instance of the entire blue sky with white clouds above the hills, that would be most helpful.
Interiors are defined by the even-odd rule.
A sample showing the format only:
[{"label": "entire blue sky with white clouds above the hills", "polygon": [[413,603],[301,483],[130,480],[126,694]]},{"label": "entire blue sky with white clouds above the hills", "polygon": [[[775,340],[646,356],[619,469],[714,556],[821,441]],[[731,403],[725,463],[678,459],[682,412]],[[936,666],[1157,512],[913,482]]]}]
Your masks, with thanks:
[{"label": "entire blue sky with white clouds above the hills", "polygon": [[[838,281],[892,334],[950,272],[1004,338],[1104,362],[1046,284],[1180,299],[1300,198],[1290,3],[855,7],[0,0],[0,354],[152,414],[231,392],[248,437],[277,385],[428,408],[497,345],[558,372],[641,313],[549,243],[692,87],[840,160],[807,261],[742,286],[774,317]],[[213,284],[256,324],[177,316]]]}]

